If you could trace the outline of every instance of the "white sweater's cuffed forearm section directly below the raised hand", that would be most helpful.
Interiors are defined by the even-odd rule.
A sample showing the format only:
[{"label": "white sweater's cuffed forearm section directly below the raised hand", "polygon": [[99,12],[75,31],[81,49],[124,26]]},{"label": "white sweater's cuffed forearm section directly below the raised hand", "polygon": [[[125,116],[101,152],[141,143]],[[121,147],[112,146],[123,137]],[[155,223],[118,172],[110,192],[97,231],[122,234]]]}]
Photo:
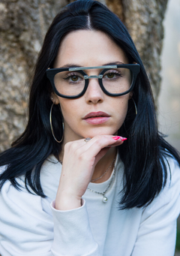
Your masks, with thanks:
[{"label": "white sweater's cuffed forearm section directly below the raised hand", "polygon": [[78,209],[60,211],[51,204],[54,220],[54,242],[52,254],[54,256],[100,256],[98,243],[92,236],[89,225],[89,216],[86,209],[86,201]]}]

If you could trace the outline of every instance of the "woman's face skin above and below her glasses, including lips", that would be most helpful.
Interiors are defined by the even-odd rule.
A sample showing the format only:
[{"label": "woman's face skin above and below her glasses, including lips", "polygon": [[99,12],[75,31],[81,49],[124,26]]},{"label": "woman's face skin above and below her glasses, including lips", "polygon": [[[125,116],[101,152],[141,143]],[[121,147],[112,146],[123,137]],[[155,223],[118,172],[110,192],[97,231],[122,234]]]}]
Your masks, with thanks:
[{"label": "woman's face skin above and below her glasses, including lips", "polygon": [[[64,66],[93,67],[109,63],[127,64],[123,50],[104,32],[79,30],[71,32],[62,41],[54,68]],[[86,74],[98,75],[100,70],[87,70]],[[64,142],[95,135],[117,134],[127,114],[130,93],[110,97],[102,91],[98,79],[89,79],[86,93],[77,99],[61,98],[52,93],[55,104],[60,104],[64,116]],[[105,116],[101,116],[101,112]],[[86,118],[90,114],[89,118]]]}]

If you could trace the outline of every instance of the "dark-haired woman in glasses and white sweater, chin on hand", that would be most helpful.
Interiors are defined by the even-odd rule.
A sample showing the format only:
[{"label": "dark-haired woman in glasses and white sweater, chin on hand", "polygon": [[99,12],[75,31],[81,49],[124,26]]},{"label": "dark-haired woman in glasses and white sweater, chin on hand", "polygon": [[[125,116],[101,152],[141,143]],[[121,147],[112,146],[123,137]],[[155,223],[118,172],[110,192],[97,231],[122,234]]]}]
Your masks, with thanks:
[{"label": "dark-haired woman in glasses and white sweater, chin on hand", "polygon": [[68,5],[1,154],[2,256],[173,255],[179,164],[127,29],[99,2]]}]

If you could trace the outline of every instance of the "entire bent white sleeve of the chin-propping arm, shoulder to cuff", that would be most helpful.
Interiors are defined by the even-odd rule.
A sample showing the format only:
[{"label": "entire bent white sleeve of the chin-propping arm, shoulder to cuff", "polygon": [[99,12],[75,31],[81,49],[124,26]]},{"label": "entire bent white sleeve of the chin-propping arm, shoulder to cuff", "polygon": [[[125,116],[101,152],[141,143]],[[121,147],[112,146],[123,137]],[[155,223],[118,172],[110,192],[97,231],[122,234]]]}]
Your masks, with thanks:
[{"label": "entire bent white sleeve of the chin-propping arm, shoulder to cuff", "polygon": [[2,256],[99,256],[85,202],[80,209],[57,211],[48,198],[25,188],[18,191],[7,181],[1,188],[0,206]]}]

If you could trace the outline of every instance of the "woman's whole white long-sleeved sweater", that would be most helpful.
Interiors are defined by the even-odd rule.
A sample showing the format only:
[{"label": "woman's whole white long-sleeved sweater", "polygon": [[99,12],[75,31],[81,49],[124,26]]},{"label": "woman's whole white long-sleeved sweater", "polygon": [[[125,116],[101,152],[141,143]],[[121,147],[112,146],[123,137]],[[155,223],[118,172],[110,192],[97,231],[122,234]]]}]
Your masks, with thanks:
[{"label": "woman's whole white long-sleeved sweater", "polygon": [[[176,218],[180,212],[180,170],[170,158],[172,179],[144,209],[118,210],[123,164],[118,160],[115,180],[103,196],[87,190],[83,206],[53,208],[62,165],[54,157],[43,164],[41,185],[46,198],[18,191],[5,182],[0,194],[0,252],[2,256],[173,256]],[[112,174],[113,175],[113,174]],[[111,177],[110,177],[111,179]],[[104,191],[106,182],[90,183]],[[20,180],[24,185],[23,178]]]}]

